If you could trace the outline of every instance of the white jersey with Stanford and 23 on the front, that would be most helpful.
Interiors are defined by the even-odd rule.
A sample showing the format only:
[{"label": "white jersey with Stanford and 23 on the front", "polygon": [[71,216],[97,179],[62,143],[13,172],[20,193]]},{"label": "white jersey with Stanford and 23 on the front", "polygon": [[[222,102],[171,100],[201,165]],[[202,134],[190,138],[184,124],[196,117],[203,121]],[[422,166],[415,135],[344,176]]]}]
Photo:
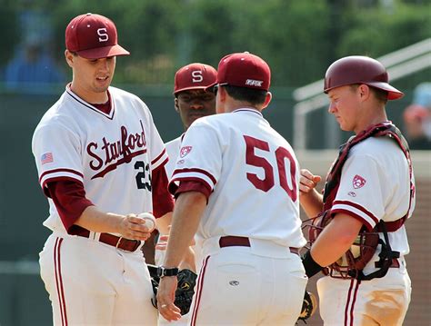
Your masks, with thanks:
[{"label": "white jersey with Stanford and 23 on the front", "polygon": [[[33,153],[42,188],[49,181],[84,183],[85,196],[105,212],[153,210],[151,172],[167,161],[165,146],[146,105],[109,87],[109,114],[85,103],[67,87],[35,129]],[[45,226],[65,232],[49,200]]]}]

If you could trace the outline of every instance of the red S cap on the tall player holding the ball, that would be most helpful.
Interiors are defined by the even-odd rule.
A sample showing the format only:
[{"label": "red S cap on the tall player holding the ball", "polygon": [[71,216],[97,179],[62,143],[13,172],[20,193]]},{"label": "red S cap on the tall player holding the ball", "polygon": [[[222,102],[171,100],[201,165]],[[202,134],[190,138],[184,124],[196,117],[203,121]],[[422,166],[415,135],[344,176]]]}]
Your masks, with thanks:
[{"label": "red S cap on the tall player holding the ball", "polygon": [[78,15],[67,25],[65,47],[86,59],[130,54],[117,44],[114,22],[91,13]]}]

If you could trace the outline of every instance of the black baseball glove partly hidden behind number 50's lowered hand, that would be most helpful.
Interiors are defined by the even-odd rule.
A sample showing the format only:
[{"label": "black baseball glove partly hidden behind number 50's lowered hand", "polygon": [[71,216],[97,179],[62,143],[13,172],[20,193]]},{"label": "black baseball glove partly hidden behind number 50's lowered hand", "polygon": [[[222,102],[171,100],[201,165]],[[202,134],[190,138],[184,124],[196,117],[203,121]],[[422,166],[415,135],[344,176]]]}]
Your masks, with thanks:
[{"label": "black baseball glove partly hidden behind number 50's lowered hand", "polygon": [[[157,266],[148,264],[148,270],[151,276],[151,283],[153,284],[154,296],[151,302],[153,306],[157,308],[157,290],[160,278],[157,275]],[[195,283],[197,275],[195,272],[184,269],[178,272],[176,276],[178,285],[175,291],[175,306],[181,309],[181,314],[185,315],[190,311],[192,305],[193,295],[195,294]]]}]

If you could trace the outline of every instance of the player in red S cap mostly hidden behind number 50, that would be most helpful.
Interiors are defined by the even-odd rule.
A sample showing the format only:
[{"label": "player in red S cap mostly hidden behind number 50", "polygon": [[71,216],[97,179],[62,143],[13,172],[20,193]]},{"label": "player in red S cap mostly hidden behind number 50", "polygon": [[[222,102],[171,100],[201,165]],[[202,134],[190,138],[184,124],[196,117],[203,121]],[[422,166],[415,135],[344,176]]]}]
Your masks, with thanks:
[{"label": "player in red S cap mostly hidden behind number 50", "polygon": [[[180,115],[184,130],[187,131],[190,124],[196,119],[206,115],[216,114],[216,96],[205,88],[216,83],[217,71],[208,64],[187,64],[181,67],[175,74],[174,96],[175,111]],[[169,156],[165,170],[169,177],[174,173],[175,163],[181,149],[181,142],[185,133],[174,140],[165,143],[166,153]],[[165,245],[167,236],[161,235],[155,247],[155,264],[162,265],[165,259]],[[196,262],[183,262],[180,268],[188,268],[195,271],[195,265],[200,265],[201,257],[199,248],[193,246]],[[191,312],[182,316],[180,321],[166,321],[159,316],[159,325],[174,323],[175,325],[188,325]]]}]

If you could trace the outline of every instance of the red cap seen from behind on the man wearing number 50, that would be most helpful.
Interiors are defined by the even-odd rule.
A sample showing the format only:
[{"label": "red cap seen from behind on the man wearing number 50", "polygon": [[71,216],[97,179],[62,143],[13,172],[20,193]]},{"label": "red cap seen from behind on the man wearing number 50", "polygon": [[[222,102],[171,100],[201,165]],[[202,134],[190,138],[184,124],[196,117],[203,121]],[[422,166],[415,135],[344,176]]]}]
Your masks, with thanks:
[{"label": "red cap seen from behind on the man wearing number 50", "polygon": [[248,52],[228,54],[218,64],[215,84],[230,84],[267,91],[271,84],[271,70],[269,65],[255,54]]}]

